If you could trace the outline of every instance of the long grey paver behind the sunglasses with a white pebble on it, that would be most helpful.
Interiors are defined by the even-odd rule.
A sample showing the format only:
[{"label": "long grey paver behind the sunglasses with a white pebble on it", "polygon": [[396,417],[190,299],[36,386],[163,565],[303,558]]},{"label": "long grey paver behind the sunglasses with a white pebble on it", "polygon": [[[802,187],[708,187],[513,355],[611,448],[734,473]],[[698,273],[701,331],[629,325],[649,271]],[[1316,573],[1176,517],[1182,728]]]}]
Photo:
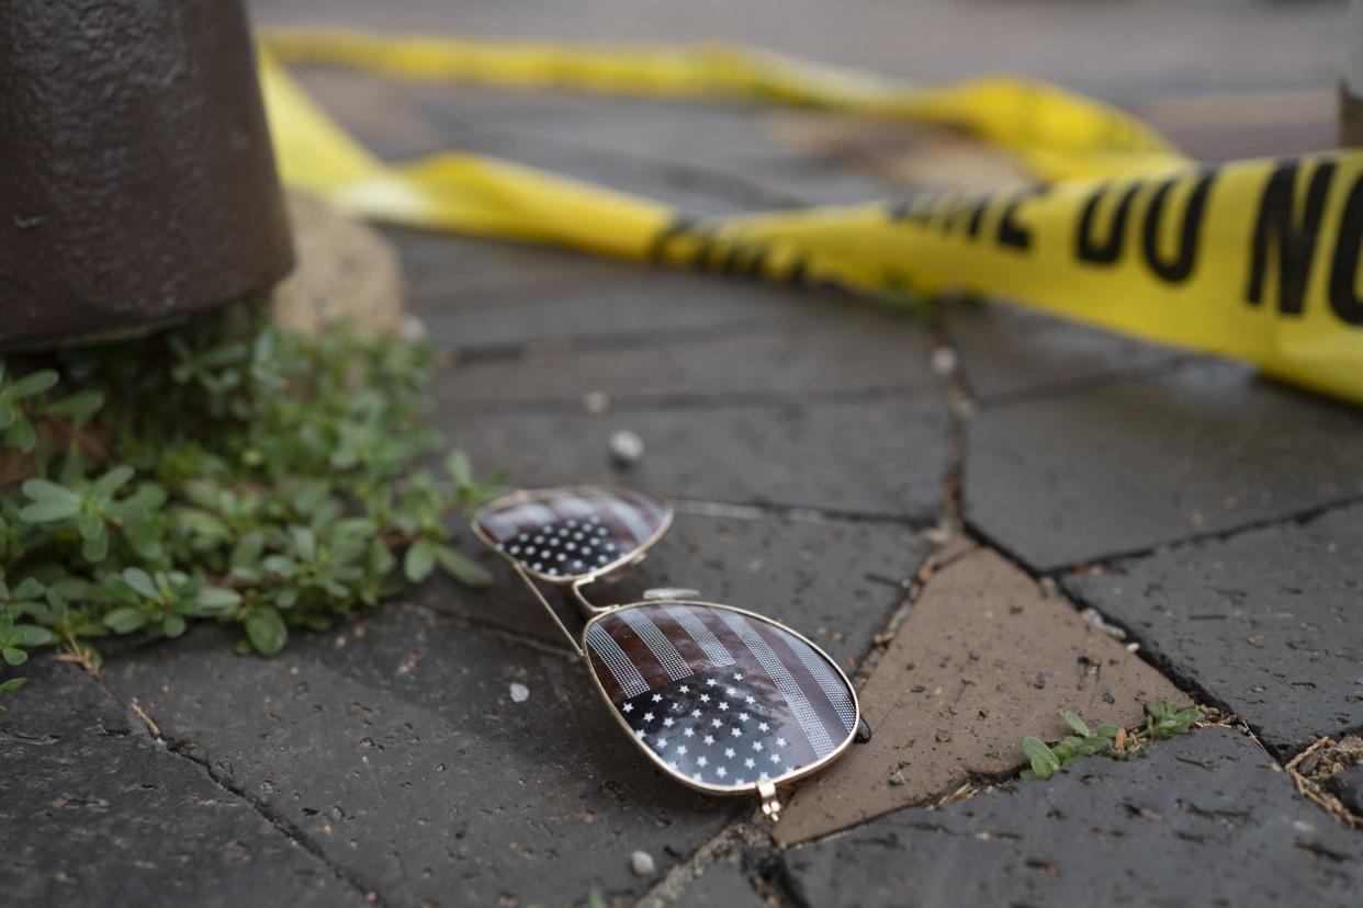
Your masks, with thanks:
[{"label": "long grey paver behind the sunglasses with a white pebble on it", "polygon": [[[696,402],[602,415],[442,408],[439,419],[474,463],[504,467],[525,486],[612,482],[699,501],[919,523],[934,520],[950,463],[950,414],[935,393],[807,406]],[[628,468],[611,456],[620,430],[645,444]]]}]

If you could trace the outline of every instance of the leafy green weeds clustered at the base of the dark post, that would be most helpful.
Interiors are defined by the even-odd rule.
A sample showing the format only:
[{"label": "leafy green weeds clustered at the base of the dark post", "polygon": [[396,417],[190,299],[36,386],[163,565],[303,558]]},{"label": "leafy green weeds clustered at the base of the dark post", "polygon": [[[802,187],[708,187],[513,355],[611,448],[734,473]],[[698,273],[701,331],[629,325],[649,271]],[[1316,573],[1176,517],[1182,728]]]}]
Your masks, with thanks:
[{"label": "leafy green weeds clustered at the base of the dark post", "polygon": [[484,486],[459,451],[418,464],[440,441],[421,418],[432,363],[427,344],[305,338],[259,309],[0,362],[0,659],[56,644],[94,670],[99,638],[192,621],[269,656],[375,606],[399,564],[487,584],[450,530]]}]

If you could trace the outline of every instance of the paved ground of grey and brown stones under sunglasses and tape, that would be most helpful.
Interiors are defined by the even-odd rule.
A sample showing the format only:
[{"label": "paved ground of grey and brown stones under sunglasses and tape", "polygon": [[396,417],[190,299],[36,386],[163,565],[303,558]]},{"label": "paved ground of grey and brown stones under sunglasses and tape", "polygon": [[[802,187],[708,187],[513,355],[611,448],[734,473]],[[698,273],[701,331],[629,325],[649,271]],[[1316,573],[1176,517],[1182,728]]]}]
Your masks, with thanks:
[{"label": "paved ground of grey and brown stones under sunglasses and tape", "polygon": [[[902,18],[804,3],[778,22],[761,4],[258,5],[275,22],[728,30],[913,75],[1007,64],[1182,124],[1208,157],[1329,142],[1321,56],[1338,14],[1293,5],[1289,27],[1285,8],[1131,3],[1075,23],[1029,3],[991,7],[991,37],[942,3]],[[1036,42],[1005,39],[1024,23]],[[1202,68],[1118,48],[1131,30],[1167,60],[1208,48]],[[1118,49],[1096,69],[1047,50],[1066,37]],[[902,191],[789,113],[305,82],[386,155],[463,144],[702,212]],[[1302,103],[1264,117],[1246,101],[1272,93]],[[1244,103],[1208,101],[1231,95]],[[932,142],[943,161],[964,151]],[[388,237],[413,309],[455,354],[435,388],[442,427],[526,485],[680,498],[622,595],[694,585],[792,622],[864,681],[876,738],[799,791],[773,839],[751,805],[683,790],[617,739],[504,572],[483,594],[432,580],[274,660],[200,628],[113,655],[101,681],[42,666],[0,719],[5,775],[34,780],[0,799],[0,839],[25,832],[0,863],[7,903],[560,905],[593,888],[622,904],[816,908],[1363,900],[1363,833],[1280,771],[1363,727],[1359,412],[995,305],[925,321],[555,249]],[[942,347],[957,370],[932,368]],[[612,461],[619,429],[645,441],[634,467]],[[1059,736],[1060,709],[1134,721],[1157,696],[1244,724],[1014,780],[1022,735]],[[1356,776],[1336,785],[1345,803]],[[936,806],[965,784],[973,798]]]}]

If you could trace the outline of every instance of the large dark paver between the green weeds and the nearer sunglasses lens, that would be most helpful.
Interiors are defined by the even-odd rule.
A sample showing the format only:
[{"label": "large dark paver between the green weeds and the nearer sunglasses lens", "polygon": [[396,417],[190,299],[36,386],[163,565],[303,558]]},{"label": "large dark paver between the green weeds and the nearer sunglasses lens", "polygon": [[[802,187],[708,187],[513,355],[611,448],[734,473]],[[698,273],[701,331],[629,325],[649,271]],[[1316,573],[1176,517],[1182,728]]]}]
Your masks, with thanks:
[{"label": "large dark paver between the green weeds and the nearer sunglasses lens", "polygon": [[634,849],[661,875],[747,809],[649,768],[574,658],[399,603],[278,659],[200,630],[105,678],[388,905],[638,897]]}]

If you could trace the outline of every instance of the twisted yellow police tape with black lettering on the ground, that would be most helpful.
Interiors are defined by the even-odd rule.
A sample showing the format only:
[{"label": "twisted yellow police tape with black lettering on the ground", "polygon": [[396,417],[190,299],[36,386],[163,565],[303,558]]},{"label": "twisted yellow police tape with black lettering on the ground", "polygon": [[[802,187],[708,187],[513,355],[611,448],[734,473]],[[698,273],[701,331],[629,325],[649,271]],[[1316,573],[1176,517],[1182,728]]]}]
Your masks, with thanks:
[{"label": "twisted yellow police tape with black lettering on the ground", "polygon": [[[1134,117],[1024,79],[917,87],[728,46],[269,31],[284,180],[356,216],[887,295],[958,290],[1227,355],[1363,403],[1363,152],[1199,166]],[[382,162],[281,63],[424,80],[800,105],[969,129],[1037,182],[691,218],[481,155]]]}]

